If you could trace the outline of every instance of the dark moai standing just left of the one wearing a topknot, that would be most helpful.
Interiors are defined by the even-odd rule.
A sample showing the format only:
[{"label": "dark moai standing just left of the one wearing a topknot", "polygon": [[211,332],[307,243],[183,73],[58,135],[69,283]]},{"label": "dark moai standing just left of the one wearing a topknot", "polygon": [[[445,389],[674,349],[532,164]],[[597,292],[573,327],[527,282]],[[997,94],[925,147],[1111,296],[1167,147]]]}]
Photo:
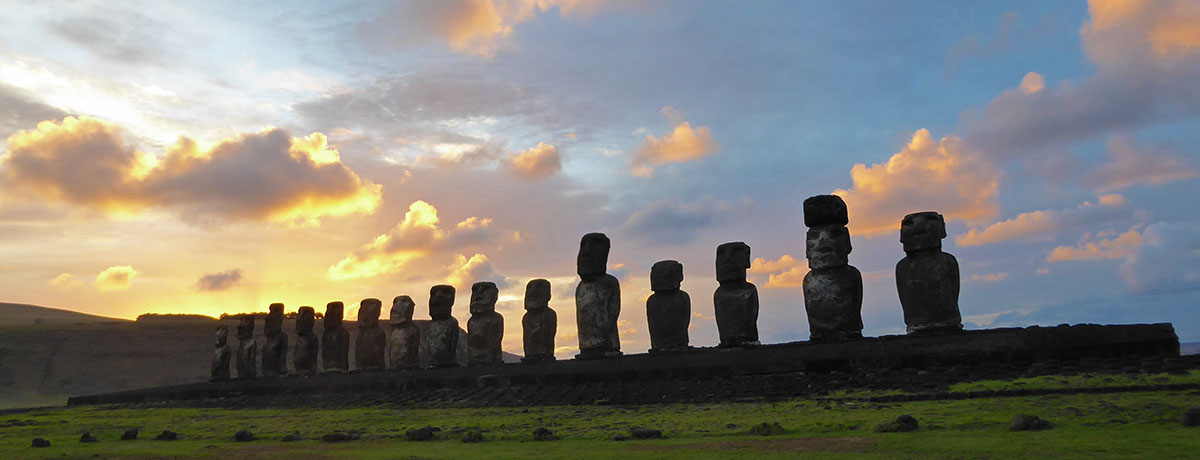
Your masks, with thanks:
[{"label": "dark moai standing just left of the one wearing a topknot", "polygon": [[758,288],[746,281],[750,246],[742,241],[716,246],[713,310],[721,347],[758,345]]}]

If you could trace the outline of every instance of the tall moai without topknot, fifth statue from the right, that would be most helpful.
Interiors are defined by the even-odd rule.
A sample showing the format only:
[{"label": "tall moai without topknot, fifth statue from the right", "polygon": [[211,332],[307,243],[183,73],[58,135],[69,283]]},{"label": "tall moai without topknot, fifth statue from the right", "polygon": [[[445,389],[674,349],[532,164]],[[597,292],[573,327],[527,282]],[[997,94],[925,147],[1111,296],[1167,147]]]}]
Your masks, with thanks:
[{"label": "tall moai without topknot, fifth statue from the right", "polygon": [[580,240],[575,288],[575,322],[580,335],[580,359],[620,356],[617,317],[620,315],[620,282],[606,273],[608,237],[588,233]]}]

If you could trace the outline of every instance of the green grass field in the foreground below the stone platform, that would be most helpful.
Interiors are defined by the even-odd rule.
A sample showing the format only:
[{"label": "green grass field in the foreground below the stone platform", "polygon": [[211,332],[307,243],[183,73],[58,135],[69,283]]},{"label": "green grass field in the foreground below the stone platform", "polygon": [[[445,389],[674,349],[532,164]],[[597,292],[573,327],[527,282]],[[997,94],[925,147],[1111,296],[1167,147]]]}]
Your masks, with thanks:
[{"label": "green grass field in the foreground below the stone platform", "polygon": [[[1039,377],[1042,378],[1042,377]],[[1052,377],[1056,388],[1091,377]],[[1142,380],[1144,377],[1123,377]],[[1154,376],[1148,376],[1153,382]],[[1171,383],[1200,381],[1200,372],[1171,376]],[[1016,388],[1030,383],[1004,384]],[[1100,380],[1098,383],[1105,383]],[[1122,383],[1120,381],[1106,382]],[[1128,382],[1124,382],[1128,384]],[[976,387],[995,388],[997,382]],[[964,388],[974,388],[966,386]],[[0,458],[24,459],[1181,459],[1200,452],[1200,428],[1180,416],[1200,405],[1200,390],[1067,394],[959,401],[870,404],[793,400],[714,405],[553,406],[530,408],[222,410],[72,407],[0,416]],[[1009,431],[1013,416],[1036,414],[1052,423],[1045,431]],[[912,414],[916,432],[875,432],[881,422]],[[749,435],[750,426],[779,423],[787,432]],[[433,441],[406,441],[407,429],[438,426]],[[547,426],[559,437],[535,442]],[[130,428],[137,441],[119,441]],[[612,441],[631,428],[662,430],[664,440]],[[257,440],[234,442],[238,430]],[[463,443],[466,430],[485,442]],[[90,431],[96,443],[79,443]],[[179,441],[152,441],[162,430]],[[334,431],[361,438],[323,443]],[[299,432],[304,438],[283,442]],[[34,437],[52,441],[31,448]]]}]

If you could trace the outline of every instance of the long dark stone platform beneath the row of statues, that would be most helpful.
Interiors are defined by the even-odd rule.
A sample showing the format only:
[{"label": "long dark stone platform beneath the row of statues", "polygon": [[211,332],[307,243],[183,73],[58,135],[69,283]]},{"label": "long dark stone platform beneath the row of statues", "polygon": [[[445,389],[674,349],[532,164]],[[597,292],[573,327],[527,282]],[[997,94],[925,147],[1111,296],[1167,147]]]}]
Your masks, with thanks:
[{"label": "long dark stone platform beneath the row of statues", "polygon": [[[566,359],[538,364],[349,372],[318,376],[262,377],[224,382],[146,388],[73,396],[68,406],[142,404],[216,399],[310,399],[338,394],[373,394],[404,400],[404,395],[474,394],[484,389],[520,388],[536,395],[553,388],[590,384],[636,389],[638,382],[689,384],[697,381],[737,382],[745,377],[778,376],[772,384],[797,386],[805,375],[875,372],[887,370],[947,369],[952,366],[1036,366],[1098,359],[1178,357],[1180,343],[1171,324],[1060,325],[967,330],[947,335],[892,335],[848,342],[791,342],[752,348],[695,348],[674,353],[642,353],[595,360]],[[886,372],[884,372],[886,374]],[[673,388],[671,384],[664,388]],[[743,388],[750,393],[761,393]],[[770,389],[762,389],[770,392]],[[514,392],[509,392],[514,393]],[[588,392],[583,392],[588,393]],[[625,392],[618,392],[625,393]],[[662,392],[668,393],[668,392]],[[725,392],[722,392],[725,393]],[[737,398],[754,396],[731,389]],[[788,393],[791,394],[791,393]],[[390,395],[390,396],[389,396]],[[668,394],[662,400],[670,400]],[[722,399],[712,395],[713,399]],[[438,396],[442,398],[442,396]],[[572,396],[575,398],[575,396]],[[589,395],[577,399],[586,401]],[[653,396],[658,398],[658,396]],[[650,399],[653,399],[650,398]],[[596,398],[599,399],[599,398]],[[638,400],[640,401],[640,400]],[[530,404],[536,404],[530,400]],[[514,405],[521,405],[516,400]]]}]

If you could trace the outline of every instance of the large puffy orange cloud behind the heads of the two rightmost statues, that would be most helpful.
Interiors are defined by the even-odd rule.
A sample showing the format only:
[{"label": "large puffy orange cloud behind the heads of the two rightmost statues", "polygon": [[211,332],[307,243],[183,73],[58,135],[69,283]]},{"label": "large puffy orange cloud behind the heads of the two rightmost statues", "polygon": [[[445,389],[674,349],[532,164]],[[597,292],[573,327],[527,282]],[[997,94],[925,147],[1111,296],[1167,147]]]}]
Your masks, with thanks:
[{"label": "large puffy orange cloud behind the heads of the two rightmost statues", "polygon": [[900,229],[908,213],[936,210],[947,220],[979,220],[997,213],[1001,172],[954,136],[934,141],[918,130],[886,163],[854,165],[853,186],[834,195],[846,201],[850,228],[859,235]]}]

